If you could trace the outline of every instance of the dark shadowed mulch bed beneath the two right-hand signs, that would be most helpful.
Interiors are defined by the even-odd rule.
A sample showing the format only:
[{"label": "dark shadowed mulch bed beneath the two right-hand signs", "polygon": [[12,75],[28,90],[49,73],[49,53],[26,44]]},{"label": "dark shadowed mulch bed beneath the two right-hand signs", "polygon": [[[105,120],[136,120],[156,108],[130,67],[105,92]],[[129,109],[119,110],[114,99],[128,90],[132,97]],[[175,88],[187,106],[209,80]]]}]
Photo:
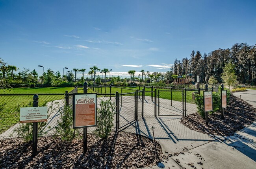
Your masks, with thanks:
[{"label": "dark shadowed mulch bed beneath the two right-hand signs", "polygon": [[255,120],[256,109],[252,105],[236,96],[230,96],[229,105],[224,108],[224,120],[221,119],[221,112],[214,112],[209,115],[209,124],[206,125],[205,119],[194,113],[182,118],[180,123],[204,134],[230,136]]}]

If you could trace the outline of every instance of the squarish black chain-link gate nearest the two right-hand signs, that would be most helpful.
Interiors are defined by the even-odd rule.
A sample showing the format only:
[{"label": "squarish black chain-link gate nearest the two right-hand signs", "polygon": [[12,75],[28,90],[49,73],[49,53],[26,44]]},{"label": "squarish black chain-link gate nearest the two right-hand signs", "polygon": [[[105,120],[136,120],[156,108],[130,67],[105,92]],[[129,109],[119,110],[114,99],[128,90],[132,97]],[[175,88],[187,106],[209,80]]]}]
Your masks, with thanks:
[{"label": "squarish black chain-link gate nearest the two right-hand signs", "polygon": [[158,90],[158,116],[184,116],[184,90]]}]

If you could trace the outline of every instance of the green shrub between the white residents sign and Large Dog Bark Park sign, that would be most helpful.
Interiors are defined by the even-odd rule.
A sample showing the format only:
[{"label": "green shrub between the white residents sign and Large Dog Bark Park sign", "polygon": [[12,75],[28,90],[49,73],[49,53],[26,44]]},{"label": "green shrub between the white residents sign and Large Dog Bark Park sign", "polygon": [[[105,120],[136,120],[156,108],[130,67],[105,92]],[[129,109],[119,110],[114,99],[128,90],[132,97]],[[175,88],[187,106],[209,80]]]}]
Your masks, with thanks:
[{"label": "green shrub between the white residents sign and Large Dog Bark Park sign", "polygon": [[62,109],[59,109],[61,114],[60,119],[58,120],[58,126],[55,127],[56,134],[58,134],[62,140],[72,141],[78,136],[78,131],[73,129],[73,111],[69,106],[65,106]]}]

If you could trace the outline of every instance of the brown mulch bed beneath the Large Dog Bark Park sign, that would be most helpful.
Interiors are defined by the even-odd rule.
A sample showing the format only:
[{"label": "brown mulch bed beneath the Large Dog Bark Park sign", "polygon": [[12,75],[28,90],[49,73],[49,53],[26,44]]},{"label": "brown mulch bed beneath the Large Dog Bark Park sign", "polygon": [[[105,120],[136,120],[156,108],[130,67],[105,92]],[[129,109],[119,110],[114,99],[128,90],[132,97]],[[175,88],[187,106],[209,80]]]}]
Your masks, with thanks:
[{"label": "brown mulch bed beneath the Large Dog Bark Park sign", "polygon": [[[0,140],[0,168],[138,168],[150,167],[165,156],[156,142],[136,134],[112,133],[108,139],[88,134],[88,151],[83,155],[83,139],[71,143],[52,136],[38,139],[38,154],[32,158],[32,142],[20,138]],[[158,154],[158,155],[156,155]]]}]

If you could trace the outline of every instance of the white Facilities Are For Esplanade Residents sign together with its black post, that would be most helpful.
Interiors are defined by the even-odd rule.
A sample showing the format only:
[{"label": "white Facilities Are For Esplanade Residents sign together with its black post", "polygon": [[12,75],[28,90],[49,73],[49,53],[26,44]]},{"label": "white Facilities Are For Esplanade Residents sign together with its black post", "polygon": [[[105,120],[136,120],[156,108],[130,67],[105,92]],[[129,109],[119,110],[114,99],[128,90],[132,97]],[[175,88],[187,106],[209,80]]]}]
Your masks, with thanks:
[{"label": "white Facilities Are For Esplanade Residents sign together with its black post", "polygon": [[37,155],[37,123],[47,121],[47,107],[38,107],[38,95],[33,96],[33,107],[20,108],[20,123],[33,123],[32,156]]}]

